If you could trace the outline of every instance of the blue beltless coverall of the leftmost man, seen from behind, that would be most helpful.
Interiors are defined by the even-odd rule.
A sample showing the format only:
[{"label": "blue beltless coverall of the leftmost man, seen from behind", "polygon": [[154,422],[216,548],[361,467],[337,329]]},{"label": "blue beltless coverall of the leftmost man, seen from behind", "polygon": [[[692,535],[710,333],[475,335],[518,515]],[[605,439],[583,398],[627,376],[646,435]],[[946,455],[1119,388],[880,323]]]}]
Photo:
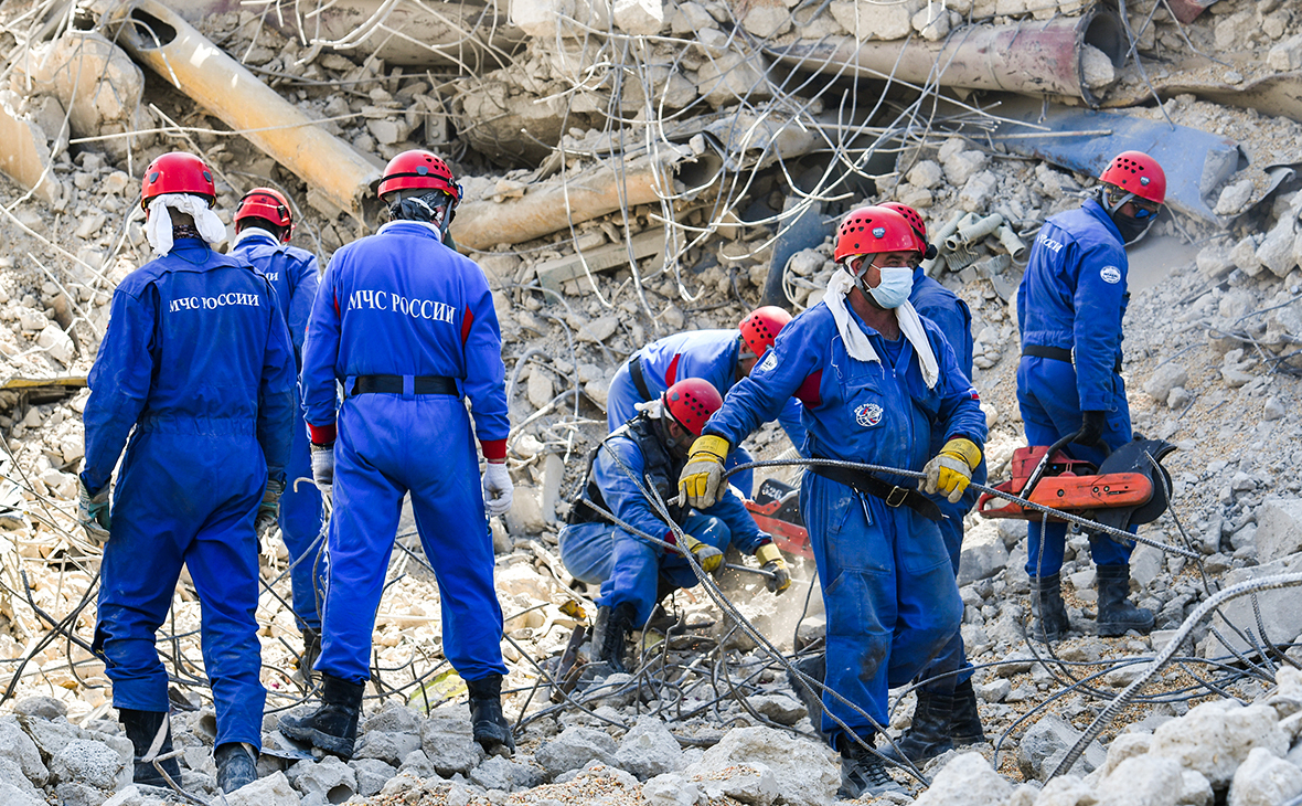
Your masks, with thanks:
[{"label": "blue beltless coverall of the leftmost man, seen from behind", "polygon": [[293,384],[276,294],[243,259],[180,238],[113,292],[83,418],[91,495],[126,445],[95,647],[116,707],[167,711],[154,634],[184,564],[199,594],[216,745],[262,746],[254,520],[268,475],[284,478]]}]

